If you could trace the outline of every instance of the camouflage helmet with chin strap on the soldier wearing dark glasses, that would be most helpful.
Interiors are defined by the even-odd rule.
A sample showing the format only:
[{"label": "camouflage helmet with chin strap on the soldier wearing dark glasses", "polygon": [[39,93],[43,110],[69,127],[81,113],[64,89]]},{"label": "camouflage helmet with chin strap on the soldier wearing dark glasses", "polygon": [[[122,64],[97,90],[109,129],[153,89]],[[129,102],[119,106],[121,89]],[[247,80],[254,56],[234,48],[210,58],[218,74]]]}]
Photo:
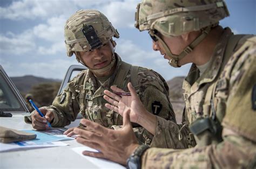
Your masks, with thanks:
[{"label": "camouflage helmet with chin strap on the soldier wearing dark glasses", "polygon": [[[211,31],[211,27],[219,24],[219,20],[229,16],[223,0],[143,0],[137,5],[135,27],[140,31],[149,30],[151,37],[159,40],[170,57],[169,64],[178,66],[178,60],[193,51]],[[157,32],[164,36],[180,36],[181,34],[199,31],[201,34],[179,55],[171,53]]]}]

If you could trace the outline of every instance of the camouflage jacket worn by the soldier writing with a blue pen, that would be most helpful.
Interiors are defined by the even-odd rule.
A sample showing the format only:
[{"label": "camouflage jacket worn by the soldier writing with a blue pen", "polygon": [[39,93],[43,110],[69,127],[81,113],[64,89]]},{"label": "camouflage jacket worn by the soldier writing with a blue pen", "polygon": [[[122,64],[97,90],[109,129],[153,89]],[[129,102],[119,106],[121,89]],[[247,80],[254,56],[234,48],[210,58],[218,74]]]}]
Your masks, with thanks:
[{"label": "camouflage jacket worn by the soldier writing with a blue pen", "polygon": [[[107,101],[103,98],[103,91],[110,90],[112,85],[117,85],[119,88],[129,91],[127,83],[134,81],[134,79],[137,82],[132,83],[137,83],[133,85],[137,85],[134,87],[137,89],[139,98],[146,109],[154,115],[176,122],[169,101],[169,87],[161,75],[150,69],[137,67],[136,72],[133,72],[137,76],[131,79],[131,71],[134,66],[130,68],[123,67],[124,65],[129,66],[129,64],[123,62],[117,54],[115,55],[117,60],[116,70],[105,82],[100,84],[88,69],[82,71],[68,83],[62,94],[55,98],[52,105],[46,107],[54,114],[51,122],[52,126],[69,125],[72,121],[75,121],[78,113],[81,112],[86,119],[109,128],[118,128],[123,124],[122,116],[105,107]],[[127,72],[125,73],[125,71]],[[133,124],[133,127],[139,143],[150,145],[153,137],[151,133],[138,126],[138,124]]]}]

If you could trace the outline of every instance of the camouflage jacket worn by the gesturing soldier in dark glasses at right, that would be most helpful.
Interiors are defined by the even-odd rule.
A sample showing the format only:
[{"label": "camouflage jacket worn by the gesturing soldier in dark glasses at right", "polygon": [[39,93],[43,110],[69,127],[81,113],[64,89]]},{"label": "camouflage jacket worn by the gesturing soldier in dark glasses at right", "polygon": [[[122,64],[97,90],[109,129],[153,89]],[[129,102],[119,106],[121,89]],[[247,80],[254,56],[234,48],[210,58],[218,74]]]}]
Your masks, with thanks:
[{"label": "camouflage jacket worn by the gesturing soldier in dark glasses at right", "polygon": [[[183,88],[185,112],[198,145],[186,150],[149,149],[142,168],[255,168],[256,37],[234,36],[226,28],[206,71],[199,76],[192,65]],[[157,119],[154,137],[171,144],[177,137],[174,124]]]}]

